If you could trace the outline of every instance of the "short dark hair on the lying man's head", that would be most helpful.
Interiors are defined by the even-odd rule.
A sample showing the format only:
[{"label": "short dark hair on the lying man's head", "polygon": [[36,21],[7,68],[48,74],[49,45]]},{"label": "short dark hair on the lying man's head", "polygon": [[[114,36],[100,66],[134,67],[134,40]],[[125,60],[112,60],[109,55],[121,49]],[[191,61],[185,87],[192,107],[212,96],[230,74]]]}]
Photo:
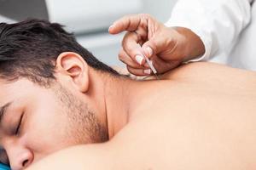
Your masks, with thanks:
[{"label": "short dark hair on the lying man's head", "polygon": [[98,71],[119,75],[79,45],[60,24],[35,19],[0,23],[0,78],[4,80],[26,77],[40,85],[49,85],[55,79],[55,60],[67,51],[80,54]]}]

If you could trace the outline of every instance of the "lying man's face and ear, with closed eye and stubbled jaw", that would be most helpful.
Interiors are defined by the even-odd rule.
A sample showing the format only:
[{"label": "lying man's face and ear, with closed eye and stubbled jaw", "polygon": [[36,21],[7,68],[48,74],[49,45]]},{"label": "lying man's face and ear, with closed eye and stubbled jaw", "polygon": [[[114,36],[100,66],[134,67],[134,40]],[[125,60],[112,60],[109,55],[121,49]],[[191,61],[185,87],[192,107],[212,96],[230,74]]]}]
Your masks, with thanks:
[{"label": "lying man's face and ear, with closed eye and stubbled jaw", "polygon": [[[98,115],[105,111],[100,105],[102,88],[97,89],[99,87],[93,86],[90,80],[93,88],[88,91],[89,77],[84,74],[88,74],[89,67],[84,59],[78,54],[63,53],[56,63],[56,77],[60,82],[55,82],[51,88],[40,87],[24,78],[9,83],[0,81],[0,105],[12,102],[0,125],[3,148],[0,160],[9,163],[14,170],[28,167],[32,162],[71,145],[108,139],[106,116]],[[83,72],[79,65],[84,65]],[[94,90],[98,94],[93,94]],[[96,100],[90,100],[92,96]],[[20,130],[15,134],[21,116]],[[103,132],[98,132],[99,129]],[[107,139],[97,133],[106,133]]]}]

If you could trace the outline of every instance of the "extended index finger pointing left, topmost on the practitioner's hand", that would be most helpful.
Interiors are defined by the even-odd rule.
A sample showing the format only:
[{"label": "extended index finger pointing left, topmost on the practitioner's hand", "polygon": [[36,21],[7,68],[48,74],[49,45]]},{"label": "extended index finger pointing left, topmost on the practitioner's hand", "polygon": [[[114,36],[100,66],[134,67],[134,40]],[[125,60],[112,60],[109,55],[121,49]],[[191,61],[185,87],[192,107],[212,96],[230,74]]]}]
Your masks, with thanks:
[{"label": "extended index finger pointing left, topmost on the practitioner's hand", "polygon": [[121,31],[136,31],[137,27],[141,24],[141,20],[147,20],[148,17],[150,17],[148,14],[125,15],[113,22],[108,31],[111,34],[118,34]]}]

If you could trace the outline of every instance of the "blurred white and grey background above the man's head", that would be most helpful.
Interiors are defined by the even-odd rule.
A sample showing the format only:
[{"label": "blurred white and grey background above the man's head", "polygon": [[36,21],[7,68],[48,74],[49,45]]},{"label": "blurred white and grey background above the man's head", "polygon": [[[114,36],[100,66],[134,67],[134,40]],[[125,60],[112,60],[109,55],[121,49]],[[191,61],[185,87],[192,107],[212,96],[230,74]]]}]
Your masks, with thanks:
[{"label": "blurred white and grey background above the man's head", "polygon": [[166,22],[177,0],[0,0],[0,22],[27,17],[59,22],[78,41],[108,65],[122,65],[118,59],[124,36],[109,35],[108,26],[125,14],[147,13]]}]

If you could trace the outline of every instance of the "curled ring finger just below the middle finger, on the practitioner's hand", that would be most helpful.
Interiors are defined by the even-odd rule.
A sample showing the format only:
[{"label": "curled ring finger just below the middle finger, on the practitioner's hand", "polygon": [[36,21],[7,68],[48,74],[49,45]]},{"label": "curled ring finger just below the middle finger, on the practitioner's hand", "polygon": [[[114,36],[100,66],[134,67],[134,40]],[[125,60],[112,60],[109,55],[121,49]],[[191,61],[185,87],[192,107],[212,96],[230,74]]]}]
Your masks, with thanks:
[{"label": "curled ring finger just below the middle finger, on the practitioner's hand", "polygon": [[131,66],[133,68],[148,69],[148,67],[139,65],[139,64],[137,64],[137,62],[135,62],[133,59],[131,59],[131,57],[128,54],[126,54],[126,52],[123,48],[119,51],[119,60],[122,61],[125,65]]}]

